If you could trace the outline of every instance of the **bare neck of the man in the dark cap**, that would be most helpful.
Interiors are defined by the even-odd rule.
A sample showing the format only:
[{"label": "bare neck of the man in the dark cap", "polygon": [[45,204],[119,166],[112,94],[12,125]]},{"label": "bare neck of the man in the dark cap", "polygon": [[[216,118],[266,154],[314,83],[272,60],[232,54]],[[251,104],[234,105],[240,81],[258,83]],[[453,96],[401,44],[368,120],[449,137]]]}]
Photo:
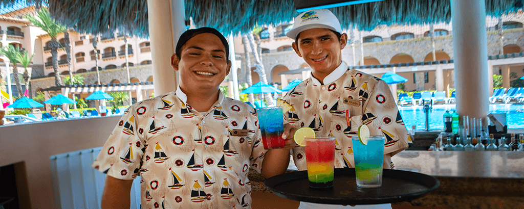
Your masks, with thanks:
[{"label": "bare neck of the man in the dark cap", "polygon": [[219,89],[205,89],[188,92],[180,88],[186,96],[186,103],[199,112],[207,112],[219,99]]}]

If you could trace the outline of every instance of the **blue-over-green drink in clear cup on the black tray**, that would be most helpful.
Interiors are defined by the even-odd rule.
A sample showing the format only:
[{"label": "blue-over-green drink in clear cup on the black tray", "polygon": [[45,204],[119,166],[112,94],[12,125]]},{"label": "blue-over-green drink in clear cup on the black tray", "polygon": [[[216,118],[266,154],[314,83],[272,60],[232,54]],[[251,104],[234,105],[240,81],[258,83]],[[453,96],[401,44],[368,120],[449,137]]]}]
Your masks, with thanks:
[{"label": "blue-over-green drink in clear cup on the black tray", "polygon": [[351,139],[353,142],[357,187],[381,187],[384,162],[384,136],[370,135],[367,145],[362,144],[358,140],[358,136],[353,136]]}]

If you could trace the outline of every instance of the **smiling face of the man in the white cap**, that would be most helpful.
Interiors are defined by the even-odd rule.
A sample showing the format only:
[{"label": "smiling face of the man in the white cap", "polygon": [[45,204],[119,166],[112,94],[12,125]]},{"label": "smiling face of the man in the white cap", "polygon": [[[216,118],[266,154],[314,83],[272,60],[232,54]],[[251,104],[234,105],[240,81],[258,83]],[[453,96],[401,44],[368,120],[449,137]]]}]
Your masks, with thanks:
[{"label": "smiling face of the man in the white cap", "polygon": [[329,29],[314,28],[300,32],[298,43],[293,43],[292,47],[313,69],[313,76],[323,79],[342,62],[341,50],[346,42],[345,33],[339,40]]}]

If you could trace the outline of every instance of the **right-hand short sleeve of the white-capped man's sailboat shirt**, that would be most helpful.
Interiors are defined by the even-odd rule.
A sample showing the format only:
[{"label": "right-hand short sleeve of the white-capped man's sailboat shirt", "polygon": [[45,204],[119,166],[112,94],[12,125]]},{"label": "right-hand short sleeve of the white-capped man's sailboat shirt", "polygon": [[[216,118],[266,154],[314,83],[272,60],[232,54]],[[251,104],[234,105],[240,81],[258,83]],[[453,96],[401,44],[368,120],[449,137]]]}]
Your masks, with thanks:
[{"label": "right-hand short sleeve of the white-capped man's sailboat shirt", "polygon": [[395,155],[412,146],[397,103],[384,80],[378,79],[370,92],[361,120],[363,124],[368,125],[371,134],[385,136],[385,154]]}]

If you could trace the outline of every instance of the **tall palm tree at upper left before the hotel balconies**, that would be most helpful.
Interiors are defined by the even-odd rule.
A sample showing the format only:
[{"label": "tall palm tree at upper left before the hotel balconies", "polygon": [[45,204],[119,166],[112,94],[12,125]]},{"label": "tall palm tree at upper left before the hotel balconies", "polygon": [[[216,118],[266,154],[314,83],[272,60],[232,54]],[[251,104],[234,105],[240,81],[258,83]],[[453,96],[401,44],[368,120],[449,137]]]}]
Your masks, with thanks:
[{"label": "tall palm tree at upper left before the hotel balconies", "polygon": [[51,37],[49,47],[51,48],[53,72],[54,72],[54,84],[56,86],[63,86],[60,73],[58,73],[58,48],[60,43],[57,40],[57,34],[65,31],[65,26],[58,24],[49,15],[49,11],[46,8],[41,8],[37,11],[37,16],[27,15],[26,18],[35,26],[41,28],[43,31]]}]

